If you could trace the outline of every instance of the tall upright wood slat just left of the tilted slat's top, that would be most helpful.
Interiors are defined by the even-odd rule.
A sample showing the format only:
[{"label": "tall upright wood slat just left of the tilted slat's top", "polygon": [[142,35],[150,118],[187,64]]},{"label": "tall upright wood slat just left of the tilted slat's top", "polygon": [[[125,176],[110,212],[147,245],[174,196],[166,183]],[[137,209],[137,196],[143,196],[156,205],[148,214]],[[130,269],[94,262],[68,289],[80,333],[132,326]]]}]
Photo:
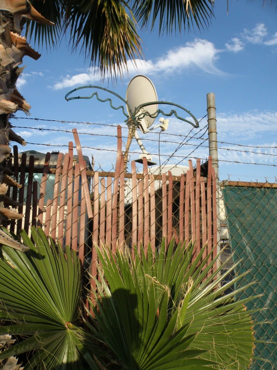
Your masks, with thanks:
[{"label": "tall upright wood slat just left of the tilted slat's top", "polygon": [[70,245],[72,231],[72,202],[73,202],[73,143],[68,143],[69,165],[67,183],[67,212],[66,212],[66,231],[65,245]]}]

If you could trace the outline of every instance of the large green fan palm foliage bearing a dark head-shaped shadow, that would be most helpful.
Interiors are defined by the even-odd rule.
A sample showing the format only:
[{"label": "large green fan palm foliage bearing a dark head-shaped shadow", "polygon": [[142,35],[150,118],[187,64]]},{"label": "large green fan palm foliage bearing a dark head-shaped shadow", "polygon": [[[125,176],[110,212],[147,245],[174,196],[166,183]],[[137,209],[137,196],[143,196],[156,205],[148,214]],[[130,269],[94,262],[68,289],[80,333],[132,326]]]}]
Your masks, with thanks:
[{"label": "large green fan palm foliage bearing a dark head-shaped shadow", "polygon": [[[173,241],[167,252],[135,249],[112,255],[97,250],[97,294],[90,302],[95,318],[91,330],[103,338],[125,369],[169,368],[240,369],[249,365],[253,329],[244,301],[236,301],[239,289],[223,291],[240,277],[219,287],[216,258],[203,258],[205,248],[191,262],[193,244]],[[212,273],[210,272],[215,269]],[[221,267],[222,268],[222,267]],[[229,271],[228,271],[229,272]],[[249,298],[250,299],[250,298]],[[195,367],[192,367],[195,366]]]}]

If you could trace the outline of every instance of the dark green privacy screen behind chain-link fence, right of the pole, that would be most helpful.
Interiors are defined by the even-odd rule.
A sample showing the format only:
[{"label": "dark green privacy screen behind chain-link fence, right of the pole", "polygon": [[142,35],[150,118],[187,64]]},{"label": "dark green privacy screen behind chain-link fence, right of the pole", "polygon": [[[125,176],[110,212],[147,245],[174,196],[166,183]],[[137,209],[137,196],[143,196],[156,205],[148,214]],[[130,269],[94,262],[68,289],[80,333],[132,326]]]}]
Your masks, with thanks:
[{"label": "dark green privacy screen behind chain-link fence, right of the pole", "polygon": [[277,369],[277,189],[232,187],[222,189],[230,246],[236,272],[249,271],[240,285],[254,282],[240,298],[263,294],[247,304],[248,309],[262,308],[254,314],[257,343],[251,368]]}]

